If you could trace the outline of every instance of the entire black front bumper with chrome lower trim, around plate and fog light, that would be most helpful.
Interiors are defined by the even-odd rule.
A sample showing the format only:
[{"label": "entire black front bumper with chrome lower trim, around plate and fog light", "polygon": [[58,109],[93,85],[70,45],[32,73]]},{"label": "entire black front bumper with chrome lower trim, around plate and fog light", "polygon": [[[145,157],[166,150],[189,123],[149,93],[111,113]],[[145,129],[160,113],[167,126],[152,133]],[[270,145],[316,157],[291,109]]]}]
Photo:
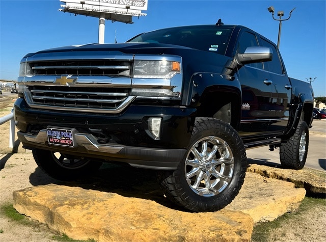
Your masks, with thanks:
[{"label": "entire black front bumper with chrome lower trim, around plate and fog light", "polygon": [[[191,138],[194,109],[165,106],[130,106],[119,115],[63,113],[31,109],[22,98],[14,105],[18,138],[28,149],[45,149],[134,167],[175,170]],[[161,117],[160,140],[148,135],[148,117]],[[74,147],[50,145],[46,127],[75,129]],[[94,130],[108,137],[98,142]]]}]

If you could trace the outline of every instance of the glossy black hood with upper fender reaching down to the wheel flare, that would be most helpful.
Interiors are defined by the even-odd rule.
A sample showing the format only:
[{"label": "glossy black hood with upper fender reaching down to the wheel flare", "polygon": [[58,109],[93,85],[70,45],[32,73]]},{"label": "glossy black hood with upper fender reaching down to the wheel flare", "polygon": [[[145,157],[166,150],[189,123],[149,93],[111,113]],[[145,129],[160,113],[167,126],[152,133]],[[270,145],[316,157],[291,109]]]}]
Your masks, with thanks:
[{"label": "glossy black hood with upper fender reaching down to the wheel flare", "polygon": [[[196,72],[222,73],[229,57],[218,53],[198,50],[190,47],[162,44],[162,43],[117,43],[117,44],[85,44],[64,46],[41,50],[26,55],[22,61],[31,58],[35,60],[58,60],[74,59],[76,56],[84,56],[89,59],[111,56],[114,58],[124,57],[132,60],[134,55],[175,55],[182,58],[184,71],[191,74]],[[231,59],[232,60],[232,59]]]}]

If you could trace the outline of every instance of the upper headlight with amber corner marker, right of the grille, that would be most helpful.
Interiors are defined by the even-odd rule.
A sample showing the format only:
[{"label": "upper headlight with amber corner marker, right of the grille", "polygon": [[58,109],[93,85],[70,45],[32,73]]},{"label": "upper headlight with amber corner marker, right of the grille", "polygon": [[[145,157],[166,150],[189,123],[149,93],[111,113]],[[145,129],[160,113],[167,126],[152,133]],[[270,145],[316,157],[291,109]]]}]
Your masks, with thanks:
[{"label": "upper headlight with amber corner marker, right of the grille", "polygon": [[177,61],[135,60],[133,64],[134,78],[171,79],[177,73],[180,73],[180,63]]}]

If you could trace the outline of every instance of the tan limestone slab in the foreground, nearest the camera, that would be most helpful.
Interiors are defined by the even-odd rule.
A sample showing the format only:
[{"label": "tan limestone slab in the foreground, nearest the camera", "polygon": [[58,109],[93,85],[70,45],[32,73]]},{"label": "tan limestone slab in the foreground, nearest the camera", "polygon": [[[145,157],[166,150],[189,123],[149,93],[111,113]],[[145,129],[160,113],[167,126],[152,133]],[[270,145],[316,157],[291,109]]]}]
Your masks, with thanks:
[{"label": "tan limestone slab in the foreground, nearest the camera", "polygon": [[155,201],[64,185],[15,191],[14,208],[74,239],[96,241],[250,241],[241,211],[193,213]]}]

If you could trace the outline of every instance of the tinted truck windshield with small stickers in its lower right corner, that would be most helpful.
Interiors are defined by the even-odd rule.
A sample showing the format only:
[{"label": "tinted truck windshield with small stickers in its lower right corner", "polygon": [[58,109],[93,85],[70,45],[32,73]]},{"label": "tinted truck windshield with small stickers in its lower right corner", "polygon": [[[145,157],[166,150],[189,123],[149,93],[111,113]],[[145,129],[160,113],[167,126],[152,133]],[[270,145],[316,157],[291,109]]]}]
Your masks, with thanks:
[{"label": "tinted truck windshield with small stickers in its lower right corner", "polygon": [[216,25],[182,26],[138,35],[127,42],[182,45],[224,55],[232,28]]}]

